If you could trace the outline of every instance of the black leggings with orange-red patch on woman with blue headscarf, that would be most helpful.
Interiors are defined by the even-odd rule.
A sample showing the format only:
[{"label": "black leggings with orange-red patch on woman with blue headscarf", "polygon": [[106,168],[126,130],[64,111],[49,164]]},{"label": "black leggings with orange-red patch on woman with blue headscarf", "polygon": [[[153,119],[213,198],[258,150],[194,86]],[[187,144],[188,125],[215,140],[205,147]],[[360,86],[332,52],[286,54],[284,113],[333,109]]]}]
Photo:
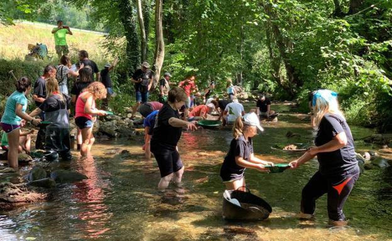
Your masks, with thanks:
[{"label": "black leggings with orange-red patch on woman with blue headscarf", "polygon": [[313,214],[316,200],[327,193],[328,217],[333,221],[345,221],[343,205],[359,177],[359,167],[351,173],[343,173],[334,177],[321,175],[316,172],[302,189],[301,212]]}]

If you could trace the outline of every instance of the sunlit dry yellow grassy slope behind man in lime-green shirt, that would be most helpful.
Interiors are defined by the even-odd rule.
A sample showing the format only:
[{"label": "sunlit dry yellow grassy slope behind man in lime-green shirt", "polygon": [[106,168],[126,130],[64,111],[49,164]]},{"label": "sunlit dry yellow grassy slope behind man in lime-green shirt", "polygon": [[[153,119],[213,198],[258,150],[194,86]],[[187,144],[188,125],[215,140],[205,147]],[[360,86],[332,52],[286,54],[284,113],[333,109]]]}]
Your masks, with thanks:
[{"label": "sunlit dry yellow grassy slope behind man in lime-green shirt", "polygon": [[[24,59],[28,54],[29,43],[44,43],[48,51],[55,57],[54,38],[51,30],[53,25],[42,23],[17,23],[13,26],[0,25],[0,58]],[[75,56],[78,50],[87,50],[90,59],[97,62],[100,67],[105,63],[105,50],[100,48],[104,36],[96,32],[72,29],[73,35],[67,35],[70,55]]]}]

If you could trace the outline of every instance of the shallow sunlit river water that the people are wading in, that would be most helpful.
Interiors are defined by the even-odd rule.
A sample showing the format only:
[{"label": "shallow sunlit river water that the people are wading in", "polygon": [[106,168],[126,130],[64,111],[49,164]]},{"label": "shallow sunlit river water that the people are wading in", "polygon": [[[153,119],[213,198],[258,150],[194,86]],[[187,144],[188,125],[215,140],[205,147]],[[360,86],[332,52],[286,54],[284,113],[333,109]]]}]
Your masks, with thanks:
[{"label": "shallow sunlit river water that the people are wading in", "polygon": [[[290,105],[272,107],[282,115],[277,123],[263,123],[265,131],[253,139],[254,152],[264,160],[289,162],[296,156],[270,146],[310,143],[314,131],[309,120],[301,120],[305,115],[288,114]],[[289,130],[301,137],[286,137]],[[372,132],[352,127],[355,139]],[[219,170],[231,139],[230,130],[183,132],[179,149],[186,167],[185,193],[173,190],[164,196],[156,189],[156,162],[143,159],[142,136],[99,141],[93,147],[94,160],[62,164],[89,179],[56,187],[50,202],[0,212],[0,240],[392,240],[391,169],[367,170],[360,176],[344,209],[348,227],[328,227],[326,196],[317,202],[314,221],[296,218],[301,189],[318,168],[315,160],[283,173],[246,170],[247,186],[269,202],[273,212],[265,221],[223,220]],[[357,152],[370,148],[356,141]],[[128,155],[118,154],[124,149]]]}]

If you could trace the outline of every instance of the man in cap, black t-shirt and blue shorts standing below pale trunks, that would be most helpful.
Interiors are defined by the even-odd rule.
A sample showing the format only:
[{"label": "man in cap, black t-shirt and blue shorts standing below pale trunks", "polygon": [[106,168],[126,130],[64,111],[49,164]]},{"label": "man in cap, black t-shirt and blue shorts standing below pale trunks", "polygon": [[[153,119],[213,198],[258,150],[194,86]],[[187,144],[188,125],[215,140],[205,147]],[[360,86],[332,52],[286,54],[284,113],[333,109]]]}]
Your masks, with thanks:
[{"label": "man in cap, black t-shirt and blue shorts standing below pale trunks", "polygon": [[132,82],[135,83],[136,105],[132,109],[131,118],[134,117],[140,104],[148,101],[148,95],[152,85],[152,71],[150,70],[149,63],[143,62],[140,69],[133,73]]}]

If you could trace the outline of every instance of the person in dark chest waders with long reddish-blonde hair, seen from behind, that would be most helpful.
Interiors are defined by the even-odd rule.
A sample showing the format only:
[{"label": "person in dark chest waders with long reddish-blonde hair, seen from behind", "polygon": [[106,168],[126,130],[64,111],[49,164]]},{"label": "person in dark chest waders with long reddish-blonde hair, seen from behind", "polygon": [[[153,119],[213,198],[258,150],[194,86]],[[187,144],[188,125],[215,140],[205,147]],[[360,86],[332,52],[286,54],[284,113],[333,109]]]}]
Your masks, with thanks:
[{"label": "person in dark chest waders with long reddish-blonde hair, seen from behind", "polygon": [[30,116],[34,117],[45,111],[45,121],[51,122],[45,131],[45,150],[55,151],[49,158],[71,161],[71,141],[69,137],[69,105],[71,97],[60,92],[54,78],[46,79],[46,99]]}]

